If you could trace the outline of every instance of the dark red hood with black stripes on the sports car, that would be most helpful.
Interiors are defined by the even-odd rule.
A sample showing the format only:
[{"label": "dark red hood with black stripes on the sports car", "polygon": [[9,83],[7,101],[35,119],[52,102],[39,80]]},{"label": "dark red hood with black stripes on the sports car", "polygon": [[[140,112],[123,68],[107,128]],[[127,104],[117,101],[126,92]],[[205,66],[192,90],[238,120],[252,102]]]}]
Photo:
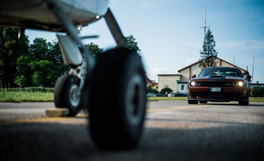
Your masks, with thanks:
[{"label": "dark red hood with black stripes on the sports car", "polygon": [[236,76],[201,76],[197,78],[192,78],[190,81],[195,82],[237,82],[237,81],[244,81],[243,77],[236,77]]}]

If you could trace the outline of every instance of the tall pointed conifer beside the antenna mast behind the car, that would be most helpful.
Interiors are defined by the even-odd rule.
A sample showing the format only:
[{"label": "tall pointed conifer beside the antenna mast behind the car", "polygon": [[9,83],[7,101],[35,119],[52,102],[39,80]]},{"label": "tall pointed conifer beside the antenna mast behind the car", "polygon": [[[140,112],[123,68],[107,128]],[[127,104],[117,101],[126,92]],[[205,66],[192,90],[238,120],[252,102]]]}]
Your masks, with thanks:
[{"label": "tall pointed conifer beside the antenna mast behind the car", "polygon": [[207,30],[205,36],[205,43],[203,45],[203,51],[200,50],[200,55],[202,61],[199,63],[199,67],[203,69],[203,56],[205,53],[205,67],[217,67],[218,60],[216,61],[216,57],[218,52],[215,50],[215,40],[214,36],[210,29]]}]

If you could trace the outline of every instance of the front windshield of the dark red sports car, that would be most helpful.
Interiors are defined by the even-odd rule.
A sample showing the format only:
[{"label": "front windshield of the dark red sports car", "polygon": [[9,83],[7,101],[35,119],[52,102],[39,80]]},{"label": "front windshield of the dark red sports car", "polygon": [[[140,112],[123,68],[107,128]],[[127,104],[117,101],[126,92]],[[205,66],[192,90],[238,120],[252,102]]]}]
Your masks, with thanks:
[{"label": "front windshield of the dark red sports car", "polygon": [[209,68],[201,71],[200,76],[237,76],[243,77],[238,69],[234,68]]}]

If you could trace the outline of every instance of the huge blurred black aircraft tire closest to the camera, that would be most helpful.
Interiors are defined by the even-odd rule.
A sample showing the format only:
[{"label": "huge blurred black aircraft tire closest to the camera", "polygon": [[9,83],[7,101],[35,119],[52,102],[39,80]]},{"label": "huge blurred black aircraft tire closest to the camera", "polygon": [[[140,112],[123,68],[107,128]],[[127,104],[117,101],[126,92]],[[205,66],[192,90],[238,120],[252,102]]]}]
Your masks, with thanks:
[{"label": "huge blurred black aircraft tire closest to the camera", "polygon": [[[127,48],[106,51],[97,61],[88,83],[81,104],[85,106],[89,98],[94,143],[108,150],[135,147],[140,140],[146,110],[145,72],[140,57]],[[100,97],[102,93],[107,97]]]}]

